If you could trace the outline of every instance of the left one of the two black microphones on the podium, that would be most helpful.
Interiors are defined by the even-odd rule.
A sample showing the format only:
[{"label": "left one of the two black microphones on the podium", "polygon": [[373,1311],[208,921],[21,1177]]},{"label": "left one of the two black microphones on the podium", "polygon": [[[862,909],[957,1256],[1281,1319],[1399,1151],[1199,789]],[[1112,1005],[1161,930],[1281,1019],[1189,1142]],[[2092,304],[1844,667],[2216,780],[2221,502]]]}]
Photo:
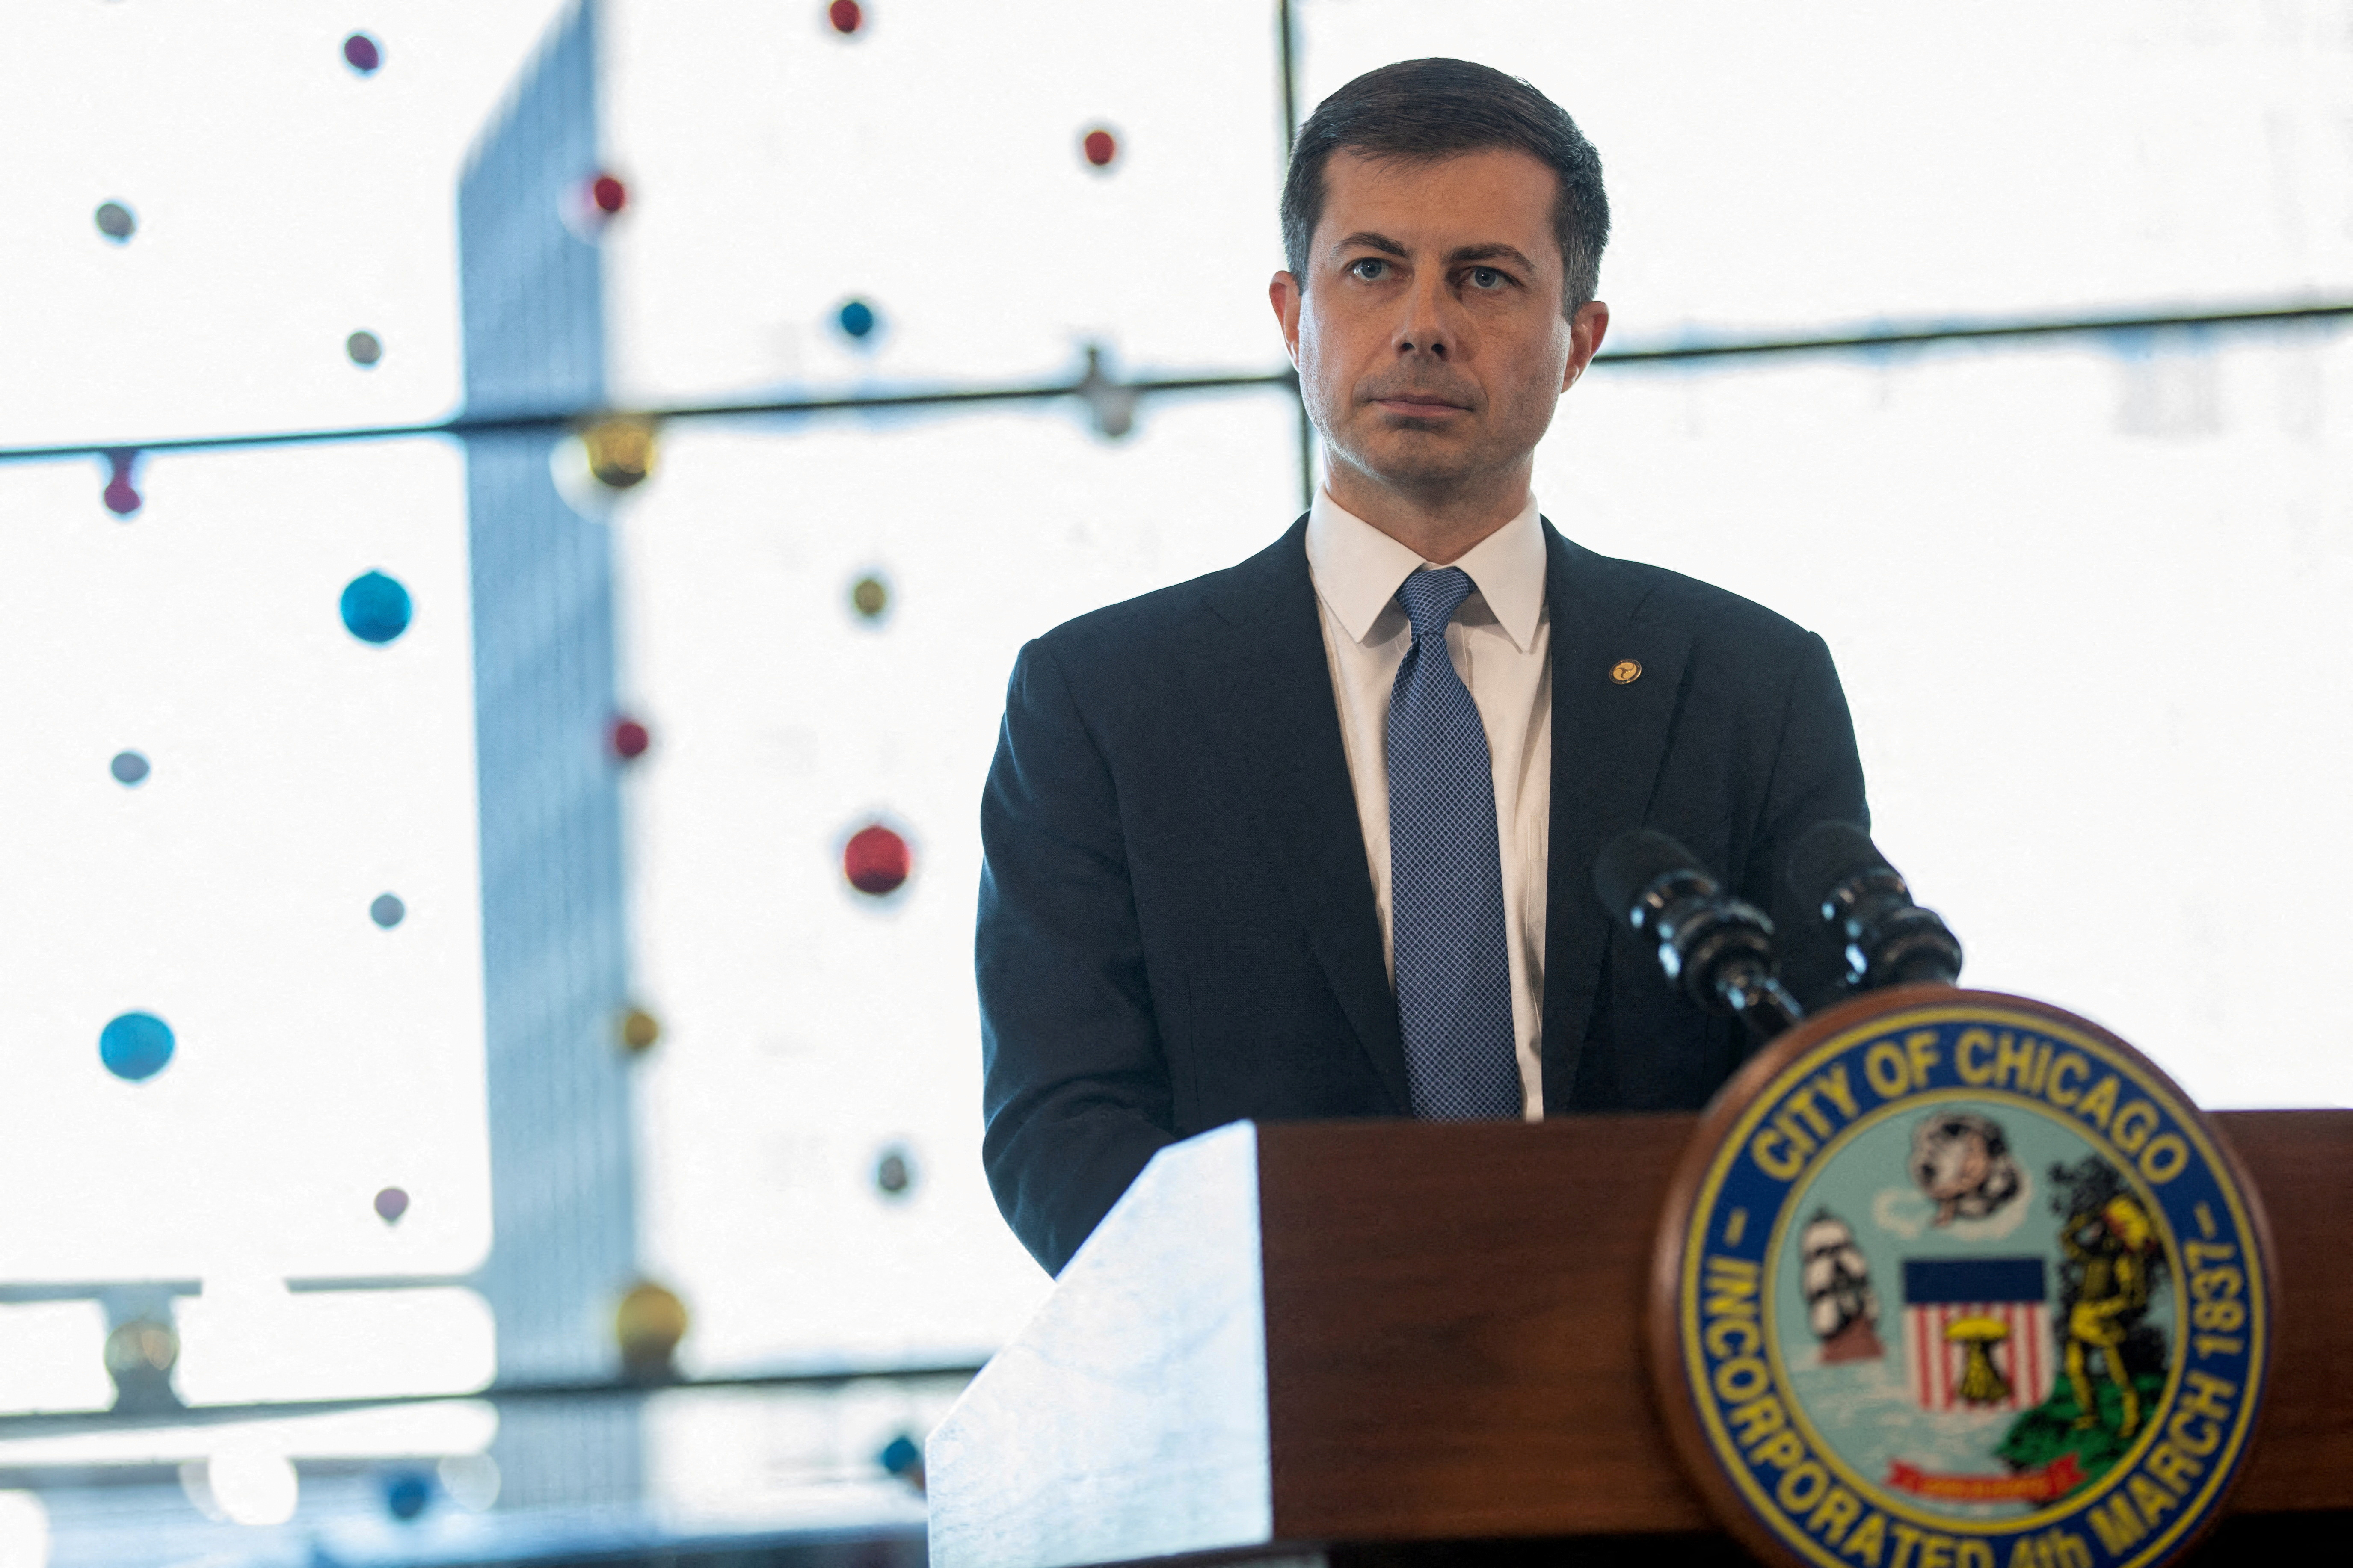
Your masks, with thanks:
[{"label": "left one of the two black microphones on the podium", "polygon": [[1689,849],[1635,827],[1593,860],[1593,891],[1609,917],[1659,943],[1659,971],[1694,1006],[1729,1013],[1758,1039],[1805,1018],[1777,978],[1772,919],[1725,896]]}]

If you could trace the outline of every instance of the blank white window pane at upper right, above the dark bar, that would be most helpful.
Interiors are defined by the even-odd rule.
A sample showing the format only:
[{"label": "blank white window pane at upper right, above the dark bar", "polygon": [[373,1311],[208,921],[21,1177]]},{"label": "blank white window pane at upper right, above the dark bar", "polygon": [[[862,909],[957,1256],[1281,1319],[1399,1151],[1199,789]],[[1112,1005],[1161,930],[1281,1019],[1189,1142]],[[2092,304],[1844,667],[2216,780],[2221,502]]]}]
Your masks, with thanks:
[{"label": "blank white window pane at upper right, above the dark bar", "polygon": [[1600,148],[1621,343],[2353,282],[2344,7],[1297,0],[1301,113],[1395,59]]}]

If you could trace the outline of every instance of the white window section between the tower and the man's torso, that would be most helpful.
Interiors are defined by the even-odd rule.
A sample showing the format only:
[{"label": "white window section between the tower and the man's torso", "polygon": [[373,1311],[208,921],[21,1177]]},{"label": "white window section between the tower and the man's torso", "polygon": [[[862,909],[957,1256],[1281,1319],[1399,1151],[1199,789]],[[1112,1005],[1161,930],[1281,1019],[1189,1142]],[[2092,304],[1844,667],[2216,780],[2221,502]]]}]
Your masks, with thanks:
[{"label": "white window section between the tower and the man's torso", "polygon": [[[1146,404],[1120,444],[1064,409],[689,425],[624,503],[642,1234],[692,1366],[986,1354],[1042,1295],[979,1161],[1005,679],[1049,625],[1271,543],[1294,440],[1278,393]],[[913,851],[887,896],[845,877],[868,825]]]}]

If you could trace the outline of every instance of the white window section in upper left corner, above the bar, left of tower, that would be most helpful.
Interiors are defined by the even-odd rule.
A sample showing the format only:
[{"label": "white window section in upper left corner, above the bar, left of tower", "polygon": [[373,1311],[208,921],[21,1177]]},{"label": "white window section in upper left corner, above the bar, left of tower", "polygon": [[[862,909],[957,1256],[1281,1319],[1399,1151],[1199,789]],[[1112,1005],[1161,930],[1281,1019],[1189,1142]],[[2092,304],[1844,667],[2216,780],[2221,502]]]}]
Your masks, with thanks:
[{"label": "white window section in upper left corner, above the bar, left of tower", "polygon": [[0,132],[40,148],[0,167],[0,444],[445,414],[452,186],[555,9],[402,5],[362,75],[304,0],[40,7],[0,52]]}]

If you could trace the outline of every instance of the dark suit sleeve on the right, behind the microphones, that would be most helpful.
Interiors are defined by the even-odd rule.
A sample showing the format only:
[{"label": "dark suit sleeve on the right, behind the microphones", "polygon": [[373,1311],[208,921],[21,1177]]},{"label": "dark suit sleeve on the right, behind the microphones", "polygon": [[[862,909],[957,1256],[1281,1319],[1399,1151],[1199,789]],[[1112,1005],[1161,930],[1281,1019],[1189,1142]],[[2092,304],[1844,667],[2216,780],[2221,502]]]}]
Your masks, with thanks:
[{"label": "dark suit sleeve on the right, behind the microphones", "polygon": [[1741,884],[1741,898],[1772,914],[1781,938],[1781,978],[1807,1009],[1835,1001],[1845,976],[1845,954],[1821,924],[1821,912],[1798,907],[1788,889],[1788,851],[1807,827],[1824,820],[1868,830],[1871,806],[1864,802],[1864,759],[1854,750],[1847,693],[1838,684],[1828,644],[1807,632],[1781,708],[1758,849]]}]

